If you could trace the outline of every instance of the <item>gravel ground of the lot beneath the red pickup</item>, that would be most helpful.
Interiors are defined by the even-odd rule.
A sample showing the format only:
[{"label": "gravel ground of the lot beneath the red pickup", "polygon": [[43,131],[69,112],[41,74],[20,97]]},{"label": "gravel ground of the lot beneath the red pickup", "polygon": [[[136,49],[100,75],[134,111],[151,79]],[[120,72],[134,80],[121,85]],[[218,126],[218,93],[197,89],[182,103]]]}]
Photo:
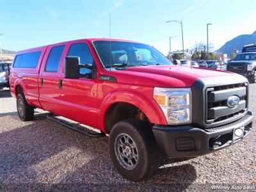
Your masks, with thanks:
[{"label": "gravel ground of the lot beneath the red pickup", "polygon": [[[252,111],[255,95],[256,84],[250,84]],[[0,90],[0,190],[209,191],[221,186],[224,191],[233,186],[232,191],[256,191],[256,117],[252,134],[236,145],[194,159],[162,159],[150,179],[130,182],[113,167],[107,137],[88,138],[46,115],[36,110],[35,120],[21,122],[15,99]]]}]

